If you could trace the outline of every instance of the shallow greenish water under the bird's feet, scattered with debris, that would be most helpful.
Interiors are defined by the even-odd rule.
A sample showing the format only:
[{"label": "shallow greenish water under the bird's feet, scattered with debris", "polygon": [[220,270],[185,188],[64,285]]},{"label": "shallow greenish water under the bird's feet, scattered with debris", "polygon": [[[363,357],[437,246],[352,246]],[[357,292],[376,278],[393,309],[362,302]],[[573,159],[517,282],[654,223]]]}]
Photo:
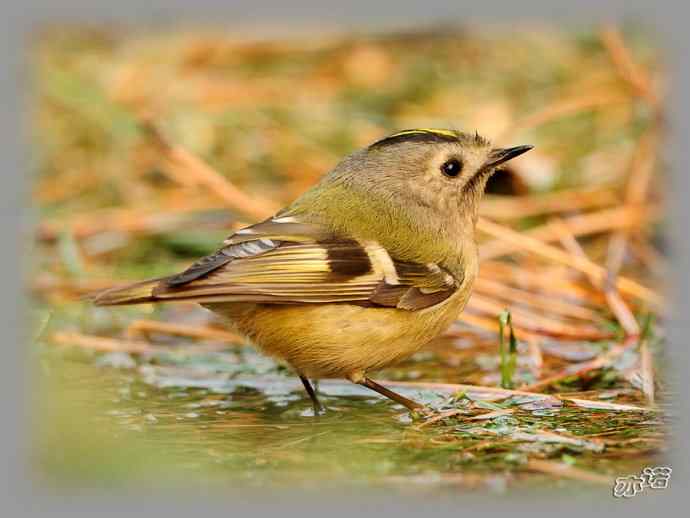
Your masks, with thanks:
[{"label": "shallow greenish water under the bird's feet, scattered with debris", "polygon": [[[530,486],[610,494],[615,476],[661,462],[657,416],[503,402],[514,407],[511,415],[460,415],[420,427],[404,408],[347,382],[320,384],[328,411],[314,416],[299,380],[248,347],[145,359],[49,347],[38,354],[35,464],[51,485],[499,493]],[[381,377],[438,375],[449,369],[443,357],[421,353]],[[472,362],[464,367],[477,370]],[[455,404],[427,390],[401,392],[439,410]],[[549,432],[566,437],[554,442]],[[535,457],[603,475],[611,485],[530,471],[526,462]]]}]

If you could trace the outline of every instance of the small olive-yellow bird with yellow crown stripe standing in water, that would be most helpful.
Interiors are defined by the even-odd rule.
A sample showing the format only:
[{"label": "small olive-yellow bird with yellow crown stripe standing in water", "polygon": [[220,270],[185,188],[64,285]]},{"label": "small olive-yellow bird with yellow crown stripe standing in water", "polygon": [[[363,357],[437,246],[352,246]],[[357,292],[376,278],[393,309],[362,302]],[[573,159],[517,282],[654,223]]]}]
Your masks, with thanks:
[{"label": "small olive-yellow bird with yellow crown stripe standing in water", "polygon": [[400,131],[342,160],[273,217],[161,279],[111,288],[98,305],[193,301],[222,315],[300,377],[345,378],[407,407],[369,378],[438,336],[477,276],[479,201],[498,166],[532,146],[478,134]]}]

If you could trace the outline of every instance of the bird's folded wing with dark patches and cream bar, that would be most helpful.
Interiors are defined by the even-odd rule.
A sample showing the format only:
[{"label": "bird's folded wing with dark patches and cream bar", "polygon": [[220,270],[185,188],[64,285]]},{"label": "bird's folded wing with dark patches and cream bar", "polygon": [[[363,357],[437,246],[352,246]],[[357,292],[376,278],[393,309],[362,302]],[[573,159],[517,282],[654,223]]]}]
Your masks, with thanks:
[{"label": "bird's folded wing with dark patches and cream bar", "polygon": [[[462,283],[434,263],[398,261],[376,242],[336,235],[294,217],[246,227],[224,245],[157,281],[149,301],[347,302],[416,311],[442,302]],[[137,294],[141,297],[141,285]],[[113,303],[127,301],[120,297]]]}]

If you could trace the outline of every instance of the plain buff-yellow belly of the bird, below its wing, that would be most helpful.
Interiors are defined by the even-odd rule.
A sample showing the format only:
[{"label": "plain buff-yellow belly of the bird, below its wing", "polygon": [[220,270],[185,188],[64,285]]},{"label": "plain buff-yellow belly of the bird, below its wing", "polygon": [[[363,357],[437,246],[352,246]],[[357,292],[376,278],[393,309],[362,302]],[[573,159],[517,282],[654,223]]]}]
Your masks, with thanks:
[{"label": "plain buff-yellow belly of the bird, below its wing", "polygon": [[469,296],[459,290],[422,310],[349,304],[206,304],[264,353],[309,378],[357,378],[403,360],[446,329]]}]

